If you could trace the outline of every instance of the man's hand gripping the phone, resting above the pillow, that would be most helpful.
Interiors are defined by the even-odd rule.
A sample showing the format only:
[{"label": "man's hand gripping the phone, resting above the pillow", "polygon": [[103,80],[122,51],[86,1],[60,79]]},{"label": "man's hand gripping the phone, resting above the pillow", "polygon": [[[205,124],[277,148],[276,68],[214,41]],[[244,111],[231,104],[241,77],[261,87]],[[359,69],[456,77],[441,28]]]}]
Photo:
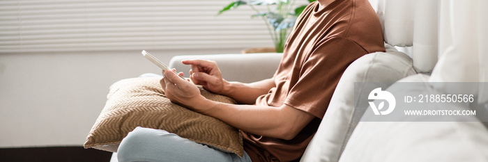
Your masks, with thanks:
[{"label": "man's hand gripping the phone, resting above the pillow", "polygon": [[[176,70],[172,70],[176,71]],[[200,95],[200,90],[190,81],[185,81],[180,78],[183,76],[183,73],[180,73],[177,76],[174,72],[167,70],[166,72],[163,71],[163,78],[160,81],[162,90],[165,91],[166,97],[171,101],[186,108],[191,108],[194,111],[204,111],[204,110],[196,110],[197,104],[201,102],[201,99],[205,99],[203,96]]]}]

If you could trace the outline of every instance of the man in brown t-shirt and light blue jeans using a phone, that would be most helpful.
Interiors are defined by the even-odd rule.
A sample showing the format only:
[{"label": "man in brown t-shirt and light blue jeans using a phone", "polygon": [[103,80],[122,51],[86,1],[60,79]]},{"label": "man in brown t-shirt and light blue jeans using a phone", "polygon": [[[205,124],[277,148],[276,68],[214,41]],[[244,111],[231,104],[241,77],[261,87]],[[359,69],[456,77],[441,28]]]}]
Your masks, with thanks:
[{"label": "man in brown t-shirt and light blue jeans using a phone", "polygon": [[[193,83],[240,104],[205,99],[193,83],[173,72],[165,72],[160,81],[171,102],[241,129],[245,156],[204,147],[162,130],[139,128],[121,143],[119,160],[137,161],[150,156],[147,161],[297,161],[317,131],[346,67],[374,51],[385,49],[379,19],[367,0],[310,3],[298,17],[280,66],[271,79],[229,82],[222,79],[215,62],[183,60],[185,65],[191,65]],[[176,140],[162,137],[169,134],[172,136],[169,138]],[[184,151],[165,146],[179,148],[183,143],[188,143],[181,147]],[[159,151],[153,154],[134,151],[148,147]],[[176,152],[191,152],[195,157]]]}]

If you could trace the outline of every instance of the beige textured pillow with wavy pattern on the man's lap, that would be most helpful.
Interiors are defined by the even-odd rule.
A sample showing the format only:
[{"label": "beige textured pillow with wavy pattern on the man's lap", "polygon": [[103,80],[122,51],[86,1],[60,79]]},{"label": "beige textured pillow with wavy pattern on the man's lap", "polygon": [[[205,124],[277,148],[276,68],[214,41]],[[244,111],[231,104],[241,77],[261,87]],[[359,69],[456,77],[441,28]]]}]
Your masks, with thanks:
[{"label": "beige textured pillow with wavy pattern on the man's lap", "polygon": [[[135,127],[148,127],[243,156],[242,135],[238,129],[170,102],[159,81],[160,78],[134,78],[114,83],[84,147],[116,152],[121,140]],[[236,104],[229,97],[199,89],[207,99]]]}]

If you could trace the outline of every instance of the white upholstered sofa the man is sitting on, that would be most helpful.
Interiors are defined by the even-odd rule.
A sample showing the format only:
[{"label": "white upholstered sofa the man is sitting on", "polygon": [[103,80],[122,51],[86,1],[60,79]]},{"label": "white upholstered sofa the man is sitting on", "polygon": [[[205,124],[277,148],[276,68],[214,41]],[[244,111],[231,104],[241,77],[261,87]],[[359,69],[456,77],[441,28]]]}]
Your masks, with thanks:
[{"label": "white upholstered sofa the man is sitting on", "polygon": [[[428,81],[409,56],[386,47],[386,53],[363,56],[344,72],[301,161],[487,161],[488,129],[482,122],[360,122],[366,109],[355,108],[360,99],[354,95],[367,97],[370,91],[355,94],[354,82]],[[170,67],[189,70],[181,60],[192,58],[215,60],[226,79],[249,82],[273,76],[281,54],[175,56]]]}]

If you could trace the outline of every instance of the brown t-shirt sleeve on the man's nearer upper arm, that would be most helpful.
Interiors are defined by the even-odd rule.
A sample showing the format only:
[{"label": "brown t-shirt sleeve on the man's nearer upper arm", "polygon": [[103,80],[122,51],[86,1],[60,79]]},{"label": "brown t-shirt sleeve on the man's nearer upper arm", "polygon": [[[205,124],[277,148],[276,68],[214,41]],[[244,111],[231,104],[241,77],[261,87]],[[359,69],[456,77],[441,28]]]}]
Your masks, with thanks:
[{"label": "brown t-shirt sleeve on the man's nearer upper arm", "polygon": [[303,63],[300,78],[284,104],[323,118],[342,73],[365,54],[365,49],[346,38],[333,37],[323,41]]}]

